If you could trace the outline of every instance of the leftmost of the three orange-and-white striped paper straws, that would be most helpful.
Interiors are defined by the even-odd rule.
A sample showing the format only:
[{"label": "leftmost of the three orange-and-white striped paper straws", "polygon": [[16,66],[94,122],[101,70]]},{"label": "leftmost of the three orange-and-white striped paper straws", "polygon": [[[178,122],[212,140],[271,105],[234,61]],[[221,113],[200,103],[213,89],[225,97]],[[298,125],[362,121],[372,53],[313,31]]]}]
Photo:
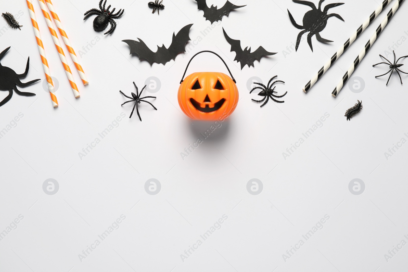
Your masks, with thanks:
[{"label": "leftmost of the three orange-and-white striped paper straws", "polygon": [[44,69],[45,78],[47,79],[47,82],[48,82],[47,88],[51,95],[52,105],[55,108],[55,107],[58,107],[58,101],[57,101],[57,97],[53,93],[51,93],[51,91],[54,90],[54,83],[51,79],[50,69],[48,67],[47,57],[45,56],[44,45],[42,44],[40,29],[38,28],[37,18],[34,12],[34,7],[31,4],[31,2],[29,2],[28,0],[27,0],[27,6],[28,6],[29,13],[30,13],[30,17],[31,17],[31,23],[33,24],[34,35],[37,40],[38,52],[40,53],[40,57],[42,60],[42,68]]}]

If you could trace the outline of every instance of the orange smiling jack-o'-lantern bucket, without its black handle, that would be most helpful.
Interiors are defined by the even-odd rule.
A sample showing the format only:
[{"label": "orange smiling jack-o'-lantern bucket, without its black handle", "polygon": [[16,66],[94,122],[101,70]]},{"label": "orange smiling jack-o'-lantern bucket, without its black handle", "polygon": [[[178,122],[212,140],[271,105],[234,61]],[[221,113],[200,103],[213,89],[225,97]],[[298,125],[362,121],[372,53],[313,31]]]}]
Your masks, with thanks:
[{"label": "orange smiling jack-o'-lantern bucket, without its black handle", "polygon": [[180,84],[178,102],[191,119],[217,120],[235,110],[238,88],[224,73],[193,73]]}]

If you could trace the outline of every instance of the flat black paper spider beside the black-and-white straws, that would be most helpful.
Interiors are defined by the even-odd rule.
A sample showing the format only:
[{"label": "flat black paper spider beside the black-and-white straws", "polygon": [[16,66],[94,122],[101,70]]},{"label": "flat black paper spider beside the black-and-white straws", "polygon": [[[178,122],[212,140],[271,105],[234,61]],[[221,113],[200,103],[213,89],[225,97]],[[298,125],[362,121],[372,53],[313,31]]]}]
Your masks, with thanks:
[{"label": "flat black paper spider beside the black-and-white straws", "polygon": [[297,48],[299,47],[299,43],[300,43],[300,38],[302,37],[302,35],[306,32],[310,32],[307,35],[307,42],[310,46],[310,49],[312,49],[313,52],[313,46],[312,46],[312,36],[316,35],[316,39],[319,42],[333,42],[330,40],[326,40],[324,38],[322,38],[322,36],[320,36],[320,31],[323,31],[323,29],[326,27],[327,24],[327,19],[334,16],[339,18],[340,20],[342,20],[344,22],[344,19],[341,18],[341,16],[337,13],[330,13],[327,14],[328,9],[331,9],[333,7],[337,7],[337,6],[341,6],[344,3],[333,3],[333,4],[328,4],[326,7],[324,7],[323,11],[320,10],[320,8],[322,7],[322,2],[324,0],[320,0],[319,1],[319,8],[316,9],[315,4],[313,4],[312,2],[308,2],[308,1],[302,1],[302,0],[293,0],[293,2],[298,3],[298,4],[304,4],[304,5],[308,5],[312,8],[312,10],[308,11],[305,13],[304,17],[303,17],[303,26],[299,25],[296,23],[295,19],[293,19],[292,14],[290,14],[289,10],[288,10],[288,14],[289,14],[289,18],[290,21],[292,22],[292,24],[298,28],[298,29],[304,29],[302,31],[300,31],[300,33],[297,35],[297,40],[296,40],[296,51]]}]

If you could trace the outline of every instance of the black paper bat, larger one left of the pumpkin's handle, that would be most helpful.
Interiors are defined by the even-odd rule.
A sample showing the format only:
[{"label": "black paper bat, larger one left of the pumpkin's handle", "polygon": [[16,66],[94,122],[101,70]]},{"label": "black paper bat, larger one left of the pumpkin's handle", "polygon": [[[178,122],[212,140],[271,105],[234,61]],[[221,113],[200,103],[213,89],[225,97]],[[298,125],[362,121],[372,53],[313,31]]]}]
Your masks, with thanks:
[{"label": "black paper bat, larger one left of the pumpkin's handle", "polygon": [[136,53],[139,56],[139,60],[145,59],[150,65],[153,65],[154,62],[166,64],[170,60],[175,60],[179,53],[186,51],[186,43],[191,40],[188,32],[190,32],[192,25],[187,24],[180,29],[177,35],[173,32],[173,41],[169,48],[166,48],[163,44],[161,47],[157,46],[156,52],[151,51],[140,38],[137,38],[139,42],[135,40],[122,40],[122,42],[126,42],[129,45],[130,53]]}]

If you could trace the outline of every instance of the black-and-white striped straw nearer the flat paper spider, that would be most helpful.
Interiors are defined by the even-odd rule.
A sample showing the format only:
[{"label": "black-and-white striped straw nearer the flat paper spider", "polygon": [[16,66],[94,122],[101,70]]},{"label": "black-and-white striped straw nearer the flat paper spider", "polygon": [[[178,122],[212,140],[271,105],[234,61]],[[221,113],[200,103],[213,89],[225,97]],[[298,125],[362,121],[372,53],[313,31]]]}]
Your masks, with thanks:
[{"label": "black-and-white striped straw nearer the flat paper spider", "polygon": [[346,51],[346,49],[348,49],[348,47],[359,37],[359,35],[371,24],[371,22],[374,21],[375,18],[377,18],[377,16],[381,13],[381,11],[383,9],[385,9],[385,7],[387,7],[387,5],[391,2],[392,0],[384,0],[384,2],[377,7],[377,9],[375,9],[375,11],[373,13],[371,13],[370,17],[368,17],[363,24],[361,24],[361,26],[353,33],[353,35],[350,36],[350,38],[344,43],[343,46],[340,47],[339,50],[337,50],[337,52],[333,55],[333,57],[331,57],[330,60],[328,60],[326,62],[326,64],[324,64],[324,66],[319,70],[319,72],[317,72],[311,80],[309,80],[308,84],[306,84],[303,87],[303,91],[305,93],[307,93],[310,88],[315,85],[315,83],[317,82],[317,80],[319,80],[320,77],[323,76],[324,73],[326,73],[326,71],[330,68],[330,66],[341,56],[341,54],[343,54],[344,51]]}]

